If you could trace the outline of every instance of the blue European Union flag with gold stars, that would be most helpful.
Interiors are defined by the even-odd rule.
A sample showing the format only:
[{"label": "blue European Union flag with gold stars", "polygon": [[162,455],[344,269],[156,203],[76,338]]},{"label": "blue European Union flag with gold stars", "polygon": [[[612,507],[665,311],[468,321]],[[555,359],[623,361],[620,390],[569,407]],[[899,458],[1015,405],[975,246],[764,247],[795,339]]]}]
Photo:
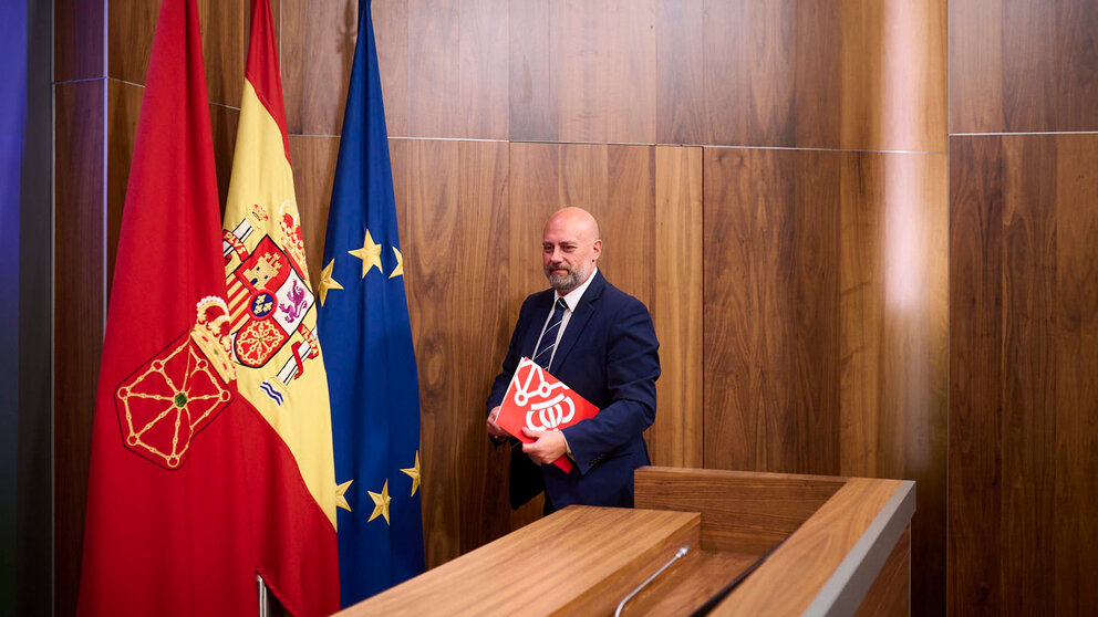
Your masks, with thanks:
[{"label": "blue European Union flag with gold stars", "polygon": [[332,399],[343,606],[423,572],[419,394],[370,3],[324,244],[320,343]]}]

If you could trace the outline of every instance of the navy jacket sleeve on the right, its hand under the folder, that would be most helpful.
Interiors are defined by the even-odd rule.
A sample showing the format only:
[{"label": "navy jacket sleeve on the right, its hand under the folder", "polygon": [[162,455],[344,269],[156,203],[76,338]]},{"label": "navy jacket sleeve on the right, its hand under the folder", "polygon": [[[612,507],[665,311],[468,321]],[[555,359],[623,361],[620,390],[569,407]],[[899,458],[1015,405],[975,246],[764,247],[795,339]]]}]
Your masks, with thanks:
[{"label": "navy jacket sleeve on the right, its hand under the folder", "polygon": [[636,300],[611,321],[607,343],[607,388],[611,402],[594,418],[563,429],[580,473],[614,450],[641,439],[655,421],[660,343],[648,308]]}]

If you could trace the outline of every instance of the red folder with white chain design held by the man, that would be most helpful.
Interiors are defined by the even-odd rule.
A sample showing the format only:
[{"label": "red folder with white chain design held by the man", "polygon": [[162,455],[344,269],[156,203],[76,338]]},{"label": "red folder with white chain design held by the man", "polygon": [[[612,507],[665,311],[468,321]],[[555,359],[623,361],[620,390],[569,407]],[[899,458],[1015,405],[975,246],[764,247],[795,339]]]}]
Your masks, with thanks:
[{"label": "red folder with white chain design held by the man", "polygon": [[[522,427],[531,430],[560,430],[580,420],[593,418],[598,412],[598,407],[525,357],[518,363],[515,376],[507,387],[496,423],[515,439],[534,443],[532,438],[522,435]],[[560,457],[553,464],[564,473],[572,470],[572,462],[568,457]]]}]

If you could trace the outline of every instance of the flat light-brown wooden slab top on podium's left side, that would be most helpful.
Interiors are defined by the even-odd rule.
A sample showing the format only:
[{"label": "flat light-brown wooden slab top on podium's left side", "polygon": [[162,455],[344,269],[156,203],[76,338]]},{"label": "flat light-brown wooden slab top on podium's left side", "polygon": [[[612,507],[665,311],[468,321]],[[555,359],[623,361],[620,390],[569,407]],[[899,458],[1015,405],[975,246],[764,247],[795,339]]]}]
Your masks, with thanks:
[{"label": "flat light-brown wooden slab top on podium's left side", "polygon": [[680,546],[697,546],[698,521],[572,505],[340,615],[609,615]]}]

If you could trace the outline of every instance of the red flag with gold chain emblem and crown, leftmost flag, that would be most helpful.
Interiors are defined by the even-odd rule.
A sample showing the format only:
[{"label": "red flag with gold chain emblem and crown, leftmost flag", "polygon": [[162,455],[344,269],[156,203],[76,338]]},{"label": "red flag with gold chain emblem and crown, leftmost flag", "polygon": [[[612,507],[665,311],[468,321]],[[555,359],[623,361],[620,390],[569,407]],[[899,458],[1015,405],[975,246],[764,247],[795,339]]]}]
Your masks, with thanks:
[{"label": "red flag with gold chain emblem and crown, leftmost flag", "polygon": [[[251,367],[234,351],[201,50],[195,0],[162,0],[94,401],[77,613],[255,615],[259,575],[291,614],[329,614],[323,472],[303,475],[301,439],[238,391]],[[305,376],[323,375],[315,349],[291,348]],[[301,414],[323,423],[325,406]]]}]

